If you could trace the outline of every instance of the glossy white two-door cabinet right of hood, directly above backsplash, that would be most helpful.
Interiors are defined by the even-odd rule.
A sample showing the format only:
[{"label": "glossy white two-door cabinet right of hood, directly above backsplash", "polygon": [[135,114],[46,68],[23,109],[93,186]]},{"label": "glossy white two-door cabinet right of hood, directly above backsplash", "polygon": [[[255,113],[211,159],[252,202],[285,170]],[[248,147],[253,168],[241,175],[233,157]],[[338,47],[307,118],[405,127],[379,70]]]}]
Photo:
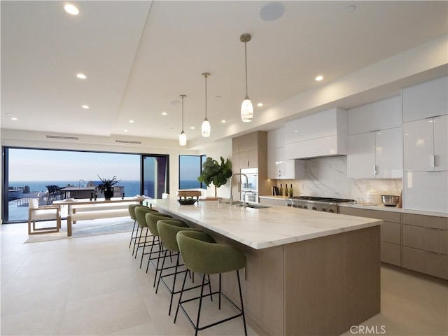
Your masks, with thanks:
[{"label": "glossy white two-door cabinet right of hood, directly above backsplash", "polygon": [[401,127],[354,134],[349,137],[347,177],[400,179],[402,177]]}]

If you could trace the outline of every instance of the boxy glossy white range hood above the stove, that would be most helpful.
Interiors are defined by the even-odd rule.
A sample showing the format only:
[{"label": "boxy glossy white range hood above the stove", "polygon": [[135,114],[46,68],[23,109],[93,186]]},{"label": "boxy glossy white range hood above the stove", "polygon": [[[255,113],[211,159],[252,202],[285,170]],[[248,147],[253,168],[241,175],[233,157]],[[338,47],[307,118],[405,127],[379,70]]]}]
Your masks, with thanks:
[{"label": "boxy glossy white range hood above the stove", "polygon": [[285,124],[286,159],[300,160],[347,155],[347,111],[334,108]]}]

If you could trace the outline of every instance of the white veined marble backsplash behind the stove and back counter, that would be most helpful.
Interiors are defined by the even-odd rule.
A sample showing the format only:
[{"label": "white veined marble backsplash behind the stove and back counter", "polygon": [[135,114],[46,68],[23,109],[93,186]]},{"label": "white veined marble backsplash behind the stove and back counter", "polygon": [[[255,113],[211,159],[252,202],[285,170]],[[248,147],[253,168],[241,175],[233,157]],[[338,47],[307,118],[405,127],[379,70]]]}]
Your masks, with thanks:
[{"label": "white veined marble backsplash behind the stove and back counter", "polygon": [[304,179],[277,180],[277,186],[285,183],[293,185],[294,196],[318,196],[367,199],[369,190],[380,195],[400,195],[401,179],[349,179],[347,177],[347,158],[315,158],[305,160]]}]

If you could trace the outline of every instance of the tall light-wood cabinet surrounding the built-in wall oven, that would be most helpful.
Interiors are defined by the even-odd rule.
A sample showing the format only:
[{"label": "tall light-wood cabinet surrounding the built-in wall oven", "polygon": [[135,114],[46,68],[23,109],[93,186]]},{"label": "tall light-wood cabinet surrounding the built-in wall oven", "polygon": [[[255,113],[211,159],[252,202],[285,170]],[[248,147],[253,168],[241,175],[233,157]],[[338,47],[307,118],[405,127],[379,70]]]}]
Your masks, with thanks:
[{"label": "tall light-wood cabinet surrounding the built-in wall oven", "polygon": [[[271,195],[272,182],[267,179],[266,162],[267,132],[253,132],[232,139],[232,174],[237,174],[244,168],[257,168],[258,195]],[[238,194],[239,182],[239,178],[232,181],[232,190],[237,190]]]}]

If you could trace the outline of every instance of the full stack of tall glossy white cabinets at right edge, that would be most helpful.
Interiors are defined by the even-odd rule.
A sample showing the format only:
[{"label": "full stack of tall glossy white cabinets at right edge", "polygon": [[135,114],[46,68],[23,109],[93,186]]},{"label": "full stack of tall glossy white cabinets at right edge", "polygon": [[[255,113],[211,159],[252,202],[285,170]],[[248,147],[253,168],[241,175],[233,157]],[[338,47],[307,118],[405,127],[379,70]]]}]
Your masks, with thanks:
[{"label": "full stack of tall glossy white cabinets at right edge", "polygon": [[403,205],[448,212],[448,77],[402,90]]}]

